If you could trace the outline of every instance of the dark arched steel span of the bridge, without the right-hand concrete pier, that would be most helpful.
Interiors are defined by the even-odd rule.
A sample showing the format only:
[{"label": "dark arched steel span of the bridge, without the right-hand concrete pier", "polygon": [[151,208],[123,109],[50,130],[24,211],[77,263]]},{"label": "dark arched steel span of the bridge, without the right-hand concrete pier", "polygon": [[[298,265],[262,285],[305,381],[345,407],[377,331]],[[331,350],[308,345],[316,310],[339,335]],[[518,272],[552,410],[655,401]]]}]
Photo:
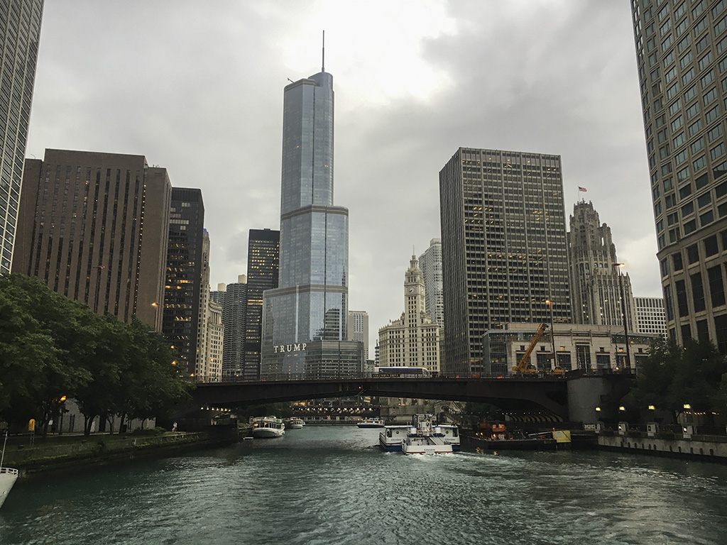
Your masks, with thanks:
[{"label": "dark arched steel span of the bridge, without the right-hand concrete pier", "polygon": [[568,419],[566,380],[553,379],[340,379],[202,383],[182,416],[201,406],[239,407],[326,397],[411,397],[490,403],[504,411],[545,410]]}]

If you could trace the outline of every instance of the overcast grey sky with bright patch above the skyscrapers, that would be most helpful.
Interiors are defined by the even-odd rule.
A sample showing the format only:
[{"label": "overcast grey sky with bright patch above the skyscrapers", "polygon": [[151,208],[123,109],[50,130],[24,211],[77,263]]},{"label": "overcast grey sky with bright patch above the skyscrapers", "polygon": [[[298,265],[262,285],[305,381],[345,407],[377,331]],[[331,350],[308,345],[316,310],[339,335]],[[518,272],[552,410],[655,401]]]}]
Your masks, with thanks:
[{"label": "overcast grey sky with bright patch above the skyscrapers", "polygon": [[283,88],[321,70],[322,30],[371,342],[460,146],[561,155],[566,218],[593,201],[634,295],[661,296],[628,0],[46,0],[27,155],[139,154],[201,188],[212,288],[234,282],[248,230],[280,227]]}]

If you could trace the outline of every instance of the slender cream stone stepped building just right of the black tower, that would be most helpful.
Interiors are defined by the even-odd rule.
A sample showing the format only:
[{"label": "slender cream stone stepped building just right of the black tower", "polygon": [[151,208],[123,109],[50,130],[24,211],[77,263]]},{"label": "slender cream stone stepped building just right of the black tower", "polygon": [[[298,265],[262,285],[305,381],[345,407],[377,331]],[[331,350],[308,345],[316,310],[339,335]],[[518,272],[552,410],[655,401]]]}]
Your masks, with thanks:
[{"label": "slender cream stone stepped building just right of the black tower", "polygon": [[222,305],[212,301],[209,291],[209,233],[202,231],[199,325],[194,374],[206,381],[222,376]]}]

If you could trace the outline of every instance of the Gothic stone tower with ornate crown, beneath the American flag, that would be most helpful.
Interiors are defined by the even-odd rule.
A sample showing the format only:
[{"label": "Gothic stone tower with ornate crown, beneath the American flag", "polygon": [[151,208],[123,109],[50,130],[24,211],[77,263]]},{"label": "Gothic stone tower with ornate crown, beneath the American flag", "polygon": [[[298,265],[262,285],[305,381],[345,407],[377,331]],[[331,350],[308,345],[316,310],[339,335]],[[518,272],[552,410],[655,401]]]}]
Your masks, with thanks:
[{"label": "Gothic stone tower with ornate crown, beneath the American flag", "polygon": [[611,227],[601,224],[593,203],[585,201],[573,206],[570,223],[568,253],[574,323],[623,327],[625,314],[628,331],[635,331],[631,280],[619,267]]}]

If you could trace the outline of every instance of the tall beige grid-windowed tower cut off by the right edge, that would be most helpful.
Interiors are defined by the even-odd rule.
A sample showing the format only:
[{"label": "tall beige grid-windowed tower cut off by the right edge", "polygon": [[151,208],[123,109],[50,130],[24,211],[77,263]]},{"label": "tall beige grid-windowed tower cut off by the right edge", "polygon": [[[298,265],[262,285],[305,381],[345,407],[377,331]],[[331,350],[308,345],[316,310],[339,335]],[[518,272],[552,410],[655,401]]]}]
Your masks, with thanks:
[{"label": "tall beige grid-windowed tower cut off by the right edge", "polygon": [[727,2],[632,0],[667,329],[727,353]]}]

